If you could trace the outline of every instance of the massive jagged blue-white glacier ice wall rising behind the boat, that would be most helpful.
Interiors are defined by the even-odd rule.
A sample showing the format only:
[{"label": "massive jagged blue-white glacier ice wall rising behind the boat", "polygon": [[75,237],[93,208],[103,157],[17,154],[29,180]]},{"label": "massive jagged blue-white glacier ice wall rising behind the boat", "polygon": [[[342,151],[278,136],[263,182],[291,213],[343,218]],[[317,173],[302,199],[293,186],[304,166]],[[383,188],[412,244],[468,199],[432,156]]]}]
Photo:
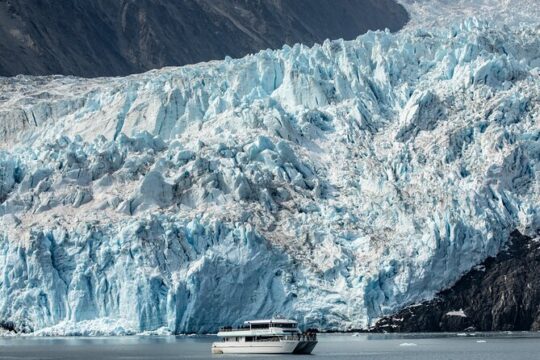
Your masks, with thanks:
[{"label": "massive jagged blue-white glacier ice wall rising behind the boat", "polygon": [[540,29],[0,79],[0,321],[361,328],[540,228]]}]

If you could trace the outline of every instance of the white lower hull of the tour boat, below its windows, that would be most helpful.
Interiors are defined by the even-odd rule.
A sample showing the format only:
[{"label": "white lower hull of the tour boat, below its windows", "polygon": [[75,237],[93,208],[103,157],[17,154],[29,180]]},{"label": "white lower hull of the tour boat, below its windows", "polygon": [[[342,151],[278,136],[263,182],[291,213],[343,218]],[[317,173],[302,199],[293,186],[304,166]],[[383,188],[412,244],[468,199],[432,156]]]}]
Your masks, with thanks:
[{"label": "white lower hull of the tour boat, below its windows", "polygon": [[215,342],[214,354],[292,354],[300,341]]}]

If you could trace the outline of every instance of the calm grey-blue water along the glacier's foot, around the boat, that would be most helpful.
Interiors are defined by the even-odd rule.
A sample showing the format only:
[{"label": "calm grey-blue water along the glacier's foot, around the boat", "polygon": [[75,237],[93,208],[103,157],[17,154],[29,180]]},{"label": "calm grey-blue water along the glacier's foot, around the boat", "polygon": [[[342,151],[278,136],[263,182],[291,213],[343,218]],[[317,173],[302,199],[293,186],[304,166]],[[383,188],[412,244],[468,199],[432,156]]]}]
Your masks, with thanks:
[{"label": "calm grey-blue water along the glacier's foot, around the boat", "polygon": [[[0,338],[0,359],[301,359],[299,355],[212,355],[213,336]],[[320,335],[308,359],[539,360],[540,333]]]}]

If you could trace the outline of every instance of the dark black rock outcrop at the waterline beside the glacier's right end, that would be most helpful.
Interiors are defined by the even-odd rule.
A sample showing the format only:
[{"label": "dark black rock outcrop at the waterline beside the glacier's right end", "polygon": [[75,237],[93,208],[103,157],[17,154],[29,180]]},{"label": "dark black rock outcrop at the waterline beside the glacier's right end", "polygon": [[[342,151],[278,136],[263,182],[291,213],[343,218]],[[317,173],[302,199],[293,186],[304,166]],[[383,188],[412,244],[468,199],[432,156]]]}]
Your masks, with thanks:
[{"label": "dark black rock outcrop at the waterline beside the glacier's right end", "polygon": [[540,330],[540,238],[515,231],[508,248],[435,299],[378,321],[374,331]]}]

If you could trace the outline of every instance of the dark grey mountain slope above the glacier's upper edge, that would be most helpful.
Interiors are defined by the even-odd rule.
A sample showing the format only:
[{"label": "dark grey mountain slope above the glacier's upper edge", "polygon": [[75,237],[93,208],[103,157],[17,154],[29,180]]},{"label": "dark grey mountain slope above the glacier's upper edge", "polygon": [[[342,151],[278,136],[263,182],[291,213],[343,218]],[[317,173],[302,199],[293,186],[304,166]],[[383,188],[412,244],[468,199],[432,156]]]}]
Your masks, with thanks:
[{"label": "dark grey mountain slope above the glacier's upper edge", "polygon": [[2,0],[0,76],[116,76],[400,29],[393,0]]}]

